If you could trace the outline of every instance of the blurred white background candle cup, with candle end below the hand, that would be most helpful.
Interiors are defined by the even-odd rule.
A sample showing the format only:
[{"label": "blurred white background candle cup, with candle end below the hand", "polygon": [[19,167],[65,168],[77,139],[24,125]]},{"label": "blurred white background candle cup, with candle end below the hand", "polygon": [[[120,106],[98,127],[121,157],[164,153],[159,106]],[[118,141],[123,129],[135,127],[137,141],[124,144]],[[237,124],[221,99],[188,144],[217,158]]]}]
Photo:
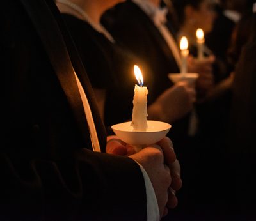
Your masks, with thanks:
[{"label": "blurred white background candle cup, with candle end below the hand", "polygon": [[[185,75],[182,73],[169,73],[168,74],[169,79],[173,83],[177,83],[180,81],[187,81],[188,84],[191,86],[195,86],[196,79],[198,79],[199,74],[198,73],[186,73]],[[188,128],[188,135],[193,137],[198,128],[198,117],[196,114],[195,108],[191,110],[191,115],[189,119],[189,128]]]}]

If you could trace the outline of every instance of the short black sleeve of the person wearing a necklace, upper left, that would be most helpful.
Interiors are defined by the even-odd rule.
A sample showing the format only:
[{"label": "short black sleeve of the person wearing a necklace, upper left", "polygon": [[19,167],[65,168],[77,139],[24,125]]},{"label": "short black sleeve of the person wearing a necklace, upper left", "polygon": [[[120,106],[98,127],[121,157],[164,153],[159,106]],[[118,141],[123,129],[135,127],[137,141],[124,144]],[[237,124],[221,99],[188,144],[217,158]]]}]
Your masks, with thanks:
[{"label": "short black sleeve of the person wearing a necklace, upper left", "polygon": [[70,34],[81,57],[93,88],[106,89],[111,78],[111,57],[106,52],[102,38],[89,24],[63,14]]}]

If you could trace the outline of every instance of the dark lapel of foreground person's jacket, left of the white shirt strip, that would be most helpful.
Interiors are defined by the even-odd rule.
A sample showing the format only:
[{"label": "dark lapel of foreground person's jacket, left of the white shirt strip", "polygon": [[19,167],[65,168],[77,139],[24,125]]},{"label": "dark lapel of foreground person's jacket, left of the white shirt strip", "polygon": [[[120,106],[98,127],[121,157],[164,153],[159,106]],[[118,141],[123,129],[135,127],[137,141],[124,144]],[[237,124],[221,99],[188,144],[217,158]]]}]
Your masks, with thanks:
[{"label": "dark lapel of foreground person's jacket, left of the white shirt strip", "polygon": [[[83,103],[81,98],[79,98],[79,89],[77,87],[76,78],[73,73],[72,64],[63,41],[63,37],[58,30],[58,24],[54,21],[53,16],[50,17],[51,11],[49,8],[47,8],[47,5],[44,2],[23,0],[21,2],[28,12],[31,21],[33,22],[35,29],[42,40],[45,52],[51,61],[51,65],[53,66],[54,71],[60,81],[61,87],[68,98],[68,102],[75,113],[77,124],[81,127],[83,132],[82,135],[85,136],[88,134],[86,133],[88,128],[84,128],[86,123],[83,122],[86,122],[86,119],[84,115]],[[42,10],[42,8],[44,8],[44,10]],[[47,17],[43,17],[45,10],[49,10],[49,15]],[[47,27],[49,31],[45,32],[45,27]],[[52,50],[52,48],[56,48],[57,50]],[[62,60],[65,60],[66,63],[61,63]],[[90,141],[90,137],[84,137],[84,140]],[[88,145],[90,145],[90,143],[88,143]]]}]

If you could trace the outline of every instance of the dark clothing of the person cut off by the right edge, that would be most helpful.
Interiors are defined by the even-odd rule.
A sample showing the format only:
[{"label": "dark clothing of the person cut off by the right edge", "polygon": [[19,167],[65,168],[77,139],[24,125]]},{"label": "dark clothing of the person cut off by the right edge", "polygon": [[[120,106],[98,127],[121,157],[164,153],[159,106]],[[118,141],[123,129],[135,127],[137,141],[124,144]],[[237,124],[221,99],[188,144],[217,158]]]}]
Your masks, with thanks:
[{"label": "dark clothing of the person cut off by the right edge", "polygon": [[[236,213],[255,220],[255,132],[256,132],[256,14],[253,15],[252,34],[237,63],[230,120],[227,157],[230,162],[231,204]],[[243,191],[240,191],[243,190]]]}]

